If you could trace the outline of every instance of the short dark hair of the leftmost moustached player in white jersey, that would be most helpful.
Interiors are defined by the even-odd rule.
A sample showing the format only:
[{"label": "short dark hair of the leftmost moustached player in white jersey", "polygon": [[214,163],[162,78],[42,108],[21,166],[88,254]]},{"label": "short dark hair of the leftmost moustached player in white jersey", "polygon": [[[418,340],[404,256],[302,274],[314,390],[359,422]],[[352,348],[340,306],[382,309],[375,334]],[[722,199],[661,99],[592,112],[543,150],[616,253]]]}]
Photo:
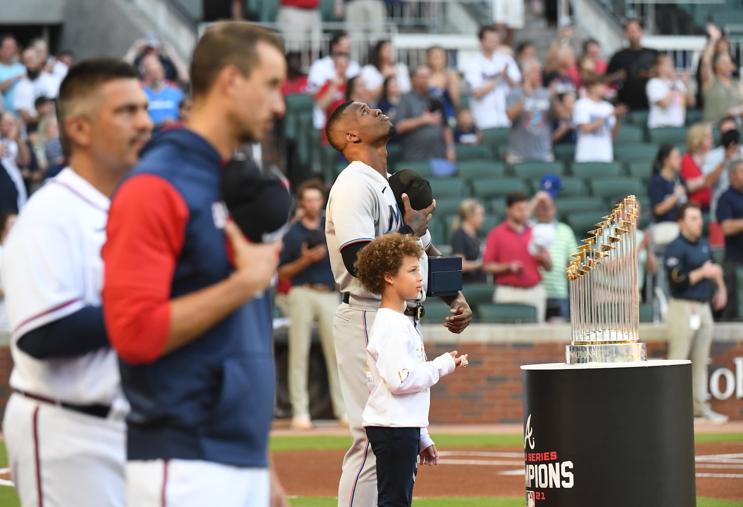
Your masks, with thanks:
[{"label": "short dark hair of the leftmost moustached player in white jersey", "polygon": [[115,80],[139,80],[139,74],[134,65],[114,58],[88,59],[72,65],[59,85],[56,100],[59,136],[65,155],[70,155],[72,147],[65,132],[65,121],[78,112],[81,103],[95,97],[100,86]]}]

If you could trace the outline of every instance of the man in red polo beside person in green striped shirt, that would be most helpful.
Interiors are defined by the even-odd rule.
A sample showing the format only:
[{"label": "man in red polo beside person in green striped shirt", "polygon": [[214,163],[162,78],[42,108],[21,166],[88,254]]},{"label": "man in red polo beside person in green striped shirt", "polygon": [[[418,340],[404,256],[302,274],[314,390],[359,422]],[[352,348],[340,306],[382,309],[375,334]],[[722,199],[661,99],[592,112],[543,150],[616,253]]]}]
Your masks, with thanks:
[{"label": "man in red polo beside person in green striped shirt", "polygon": [[531,227],[528,226],[529,198],[512,192],[506,197],[507,218],[490,231],[485,239],[483,271],[496,277],[494,303],[519,303],[534,306],[536,319],[545,321],[547,291],[542,286],[539,266],[550,271],[552,262],[545,249],[529,253]]}]

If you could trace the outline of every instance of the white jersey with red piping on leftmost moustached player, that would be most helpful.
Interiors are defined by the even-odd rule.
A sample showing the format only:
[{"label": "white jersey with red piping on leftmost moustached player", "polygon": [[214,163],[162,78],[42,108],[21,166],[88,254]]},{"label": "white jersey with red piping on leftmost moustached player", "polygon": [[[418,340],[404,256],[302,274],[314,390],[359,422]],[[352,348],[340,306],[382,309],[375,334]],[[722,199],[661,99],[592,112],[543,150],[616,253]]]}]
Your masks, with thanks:
[{"label": "white jersey with red piping on leftmost moustached player", "polygon": [[16,343],[85,306],[101,305],[108,197],[65,168],[28,201],[3,248],[14,389],[73,404],[126,403],[113,349],[40,361]]}]

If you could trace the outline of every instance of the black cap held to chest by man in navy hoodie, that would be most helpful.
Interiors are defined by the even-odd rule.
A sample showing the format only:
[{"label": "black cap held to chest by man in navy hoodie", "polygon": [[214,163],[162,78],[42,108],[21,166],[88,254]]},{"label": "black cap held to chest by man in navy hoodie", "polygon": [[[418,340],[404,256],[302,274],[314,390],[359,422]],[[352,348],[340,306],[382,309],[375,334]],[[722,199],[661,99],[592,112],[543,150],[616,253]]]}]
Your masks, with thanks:
[{"label": "black cap held to chest by man in navy hoodie", "polygon": [[222,168],[221,196],[251,242],[272,242],[284,236],[291,212],[287,185],[263,174],[252,158],[237,153]]}]

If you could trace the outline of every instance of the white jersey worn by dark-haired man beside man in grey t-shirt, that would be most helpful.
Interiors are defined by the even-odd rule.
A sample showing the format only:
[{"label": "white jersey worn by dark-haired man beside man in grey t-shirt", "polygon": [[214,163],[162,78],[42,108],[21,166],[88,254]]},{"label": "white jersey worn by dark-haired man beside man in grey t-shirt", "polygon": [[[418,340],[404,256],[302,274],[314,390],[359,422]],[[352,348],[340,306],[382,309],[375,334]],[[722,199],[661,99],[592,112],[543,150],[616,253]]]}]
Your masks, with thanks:
[{"label": "white jersey worn by dark-haired man beside man in grey t-shirt", "polygon": [[516,60],[508,54],[496,51],[492,59],[488,59],[484,54],[476,54],[467,63],[464,79],[470,85],[471,90],[476,90],[493,79],[499,81],[495,88],[481,98],[470,99],[470,109],[472,109],[475,124],[479,129],[510,126],[510,120],[506,115],[506,95],[510,86],[507,80],[499,77],[506,65],[508,65],[508,76],[511,80],[521,82],[519,65],[516,65]]}]

